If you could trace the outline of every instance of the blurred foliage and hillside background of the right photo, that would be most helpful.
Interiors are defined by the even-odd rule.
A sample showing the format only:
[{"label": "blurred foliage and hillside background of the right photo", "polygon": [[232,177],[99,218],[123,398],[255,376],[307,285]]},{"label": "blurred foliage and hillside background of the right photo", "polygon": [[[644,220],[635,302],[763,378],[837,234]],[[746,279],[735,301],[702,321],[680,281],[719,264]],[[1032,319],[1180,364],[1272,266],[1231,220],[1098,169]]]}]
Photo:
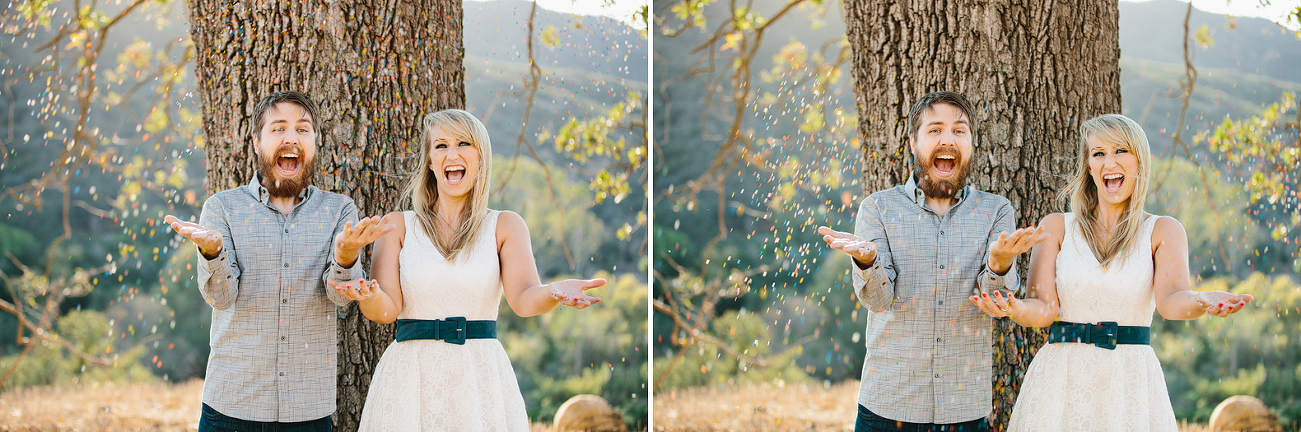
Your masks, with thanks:
[{"label": "blurred foliage and hillside background of the right photo", "polygon": [[[873,191],[863,186],[842,5],[652,8],[656,428],[843,429],[866,310],[848,258],[814,229],[852,232]],[[1119,3],[1121,113],[1142,124],[1154,152],[1147,211],[1188,232],[1193,289],[1257,301],[1231,319],[1158,317],[1153,347],[1190,428],[1249,394],[1296,431],[1301,8],[1188,8]]]}]

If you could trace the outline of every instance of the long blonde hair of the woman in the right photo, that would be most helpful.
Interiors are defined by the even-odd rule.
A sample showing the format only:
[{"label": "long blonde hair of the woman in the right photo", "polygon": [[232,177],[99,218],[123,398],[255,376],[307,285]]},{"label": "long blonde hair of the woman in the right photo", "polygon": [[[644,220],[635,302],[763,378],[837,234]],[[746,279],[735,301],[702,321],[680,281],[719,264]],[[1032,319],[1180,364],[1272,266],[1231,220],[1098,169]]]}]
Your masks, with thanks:
[{"label": "long blonde hair of the woman in the right photo", "polygon": [[[1138,176],[1133,178],[1134,190],[1125,202],[1125,208],[1120,213],[1120,221],[1111,239],[1102,245],[1098,233],[1098,186],[1089,173],[1089,141],[1098,139],[1102,143],[1132,152],[1138,159]],[[1071,202],[1071,212],[1075,213],[1076,224],[1084,234],[1084,241],[1098,259],[1102,268],[1107,268],[1116,258],[1128,256],[1137,243],[1138,228],[1144,221],[1144,203],[1147,200],[1147,180],[1151,172],[1151,150],[1147,147],[1147,135],[1138,122],[1121,115],[1102,115],[1089,118],[1080,125],[1080,155],[1077,157],[1073,178],[1062,191],[1063,198]],[[1127,180],[1128,181],[1128,180]]]}]

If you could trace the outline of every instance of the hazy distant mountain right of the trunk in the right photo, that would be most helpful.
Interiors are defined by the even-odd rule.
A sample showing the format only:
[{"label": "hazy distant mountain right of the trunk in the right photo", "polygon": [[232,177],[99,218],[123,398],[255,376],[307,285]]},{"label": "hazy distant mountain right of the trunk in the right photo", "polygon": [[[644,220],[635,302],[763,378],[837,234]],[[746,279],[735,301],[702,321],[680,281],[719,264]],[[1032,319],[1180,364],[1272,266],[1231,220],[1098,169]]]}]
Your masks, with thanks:
[{"label": "hazy distant mountain right of the trunk in the right photo", "polygon": [[[1179,126],[1187,8],[1176,0],[1120,3],[1121,112],[1142,121],[1158,156],[1174,151]],[[1198,9],[1189,18],[1189,33],[1205,23],[1215,42],[1206,48],[1189,42],[1197,69],[1184,121],[1189,144],[1197,131],[1214,129],[1226,116],[1245,118],[1278,101],[1283,91],[1301,91],[1301,40],[1268,20],[1236,18],[1233,29],[1229,21]]]}]

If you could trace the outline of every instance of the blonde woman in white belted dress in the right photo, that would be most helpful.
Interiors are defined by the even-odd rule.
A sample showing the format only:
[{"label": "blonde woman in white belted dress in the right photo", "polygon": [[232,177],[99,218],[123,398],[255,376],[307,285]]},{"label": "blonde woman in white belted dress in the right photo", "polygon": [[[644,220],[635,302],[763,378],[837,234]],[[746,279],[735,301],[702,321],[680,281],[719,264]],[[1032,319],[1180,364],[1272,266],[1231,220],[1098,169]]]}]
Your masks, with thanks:
[{"label": "blonde woman in white belted dress in the right photo", "polygon": [[1080,126],[1069,213],[1045,216],[1051,236],[1030,252],[1025,299],[971,301],[1024,327],[1051,327],[1012,409],[1011,431],[1176,431],[1153,311],[1167,320],[1228,316],[1252,295],[1193,291],[1188,237],[1144,212],[1151,156],[1137,122],[1105,115]]}]

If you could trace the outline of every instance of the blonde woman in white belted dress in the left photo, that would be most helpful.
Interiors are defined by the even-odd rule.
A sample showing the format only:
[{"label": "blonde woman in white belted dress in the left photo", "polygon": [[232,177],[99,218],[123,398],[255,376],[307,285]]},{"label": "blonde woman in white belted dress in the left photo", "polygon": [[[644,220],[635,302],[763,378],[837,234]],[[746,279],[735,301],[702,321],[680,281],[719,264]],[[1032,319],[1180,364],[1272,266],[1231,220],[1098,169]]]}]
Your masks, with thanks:
[{"label": "blonde woman in white belted dress in the left photo", "polygon": [[362,431],[527,431],[528,414],[496,340],[505,293],[520,316],[557,304],[584,308],[605,280],[541,284],[528,226],[488,209],[492,146],[459,109],[424,117],[420,168],[407,185],[414,211],[393,212],[375,243],[375,280],[338,285],[367,319],[398,321],[362,411]]}]

